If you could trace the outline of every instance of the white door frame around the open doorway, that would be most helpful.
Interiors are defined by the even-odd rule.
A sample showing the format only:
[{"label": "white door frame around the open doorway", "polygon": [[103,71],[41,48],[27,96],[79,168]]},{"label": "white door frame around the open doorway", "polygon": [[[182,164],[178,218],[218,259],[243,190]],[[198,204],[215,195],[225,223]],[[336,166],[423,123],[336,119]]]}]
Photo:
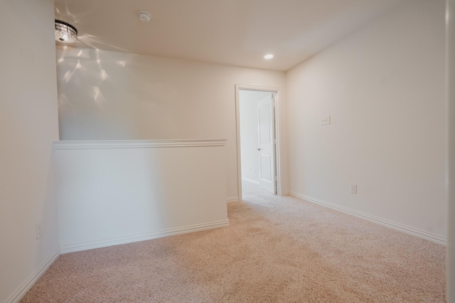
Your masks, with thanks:
[{"label": "white door frame around the open doorway", "polygon": [[252,90],[259,92],[272,92],[275,94],[274,132],[277,138],[277,150],[275,150],[277,195],[282,195],[282,89],[279,87],[258,87],[253,85],[235,84],[235,121],[237,141],[237,194],[239,201],[242,200],[242,159],[240,153],[240,99],[239,90]]}]

